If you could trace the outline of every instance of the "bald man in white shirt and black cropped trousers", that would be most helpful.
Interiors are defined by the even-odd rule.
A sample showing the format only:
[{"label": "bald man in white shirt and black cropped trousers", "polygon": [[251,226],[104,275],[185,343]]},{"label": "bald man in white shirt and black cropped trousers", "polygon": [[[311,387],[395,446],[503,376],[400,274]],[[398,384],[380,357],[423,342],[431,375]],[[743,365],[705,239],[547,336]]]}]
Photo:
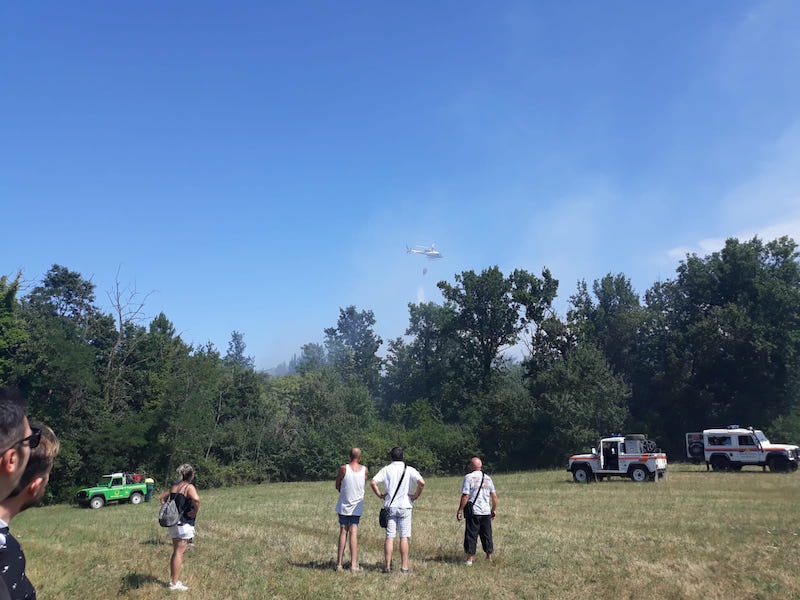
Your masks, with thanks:
[{"label": "bald man in white shirt and black cropped trousers", "polygon": [[[470,472],[464,476],[464,483],[461,485],[461,500],[458,504],[456,519],[466,520],[464,530],[464,552],[467,555],[464,564],[472,565],[475,560],[475,553],[478,546],[478,536],[481,538],[481,546],[486,553],[486,559],[492,559],[494,552],[494,541],[492,539],[492,519],[497,516],[497,492],[494,489],[492,478],[486,475],[483,463],[477,456],[469,461]],[[467,503],[472,503],[471,514],[464,516],[464,507]]]}]

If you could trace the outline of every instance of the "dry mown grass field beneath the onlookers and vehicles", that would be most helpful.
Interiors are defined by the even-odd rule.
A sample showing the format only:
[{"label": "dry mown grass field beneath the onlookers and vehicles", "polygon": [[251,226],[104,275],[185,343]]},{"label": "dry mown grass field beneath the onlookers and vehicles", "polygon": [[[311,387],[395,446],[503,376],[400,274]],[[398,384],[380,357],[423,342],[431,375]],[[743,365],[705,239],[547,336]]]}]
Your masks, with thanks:
[{"label": "dry mown grass field beneath the onlookers and vehicles", "polygon": [[[351,574],[333,568],[332,480],[215,490],[198,481],[203,505],[185,595],[800,599],[800,474],[670,469],[668,479],[642,484],[579,485],[564,470],[496,475],[495,560],[471,568],[461,565],[455,520],[461,478],[428,478],[407,576],[381,573],[379,501],[369,490],[364,571]],[[171,545],[156,513],[156,502],[45,507],[17,517],[12,531],[40,600],[181,596],[167,587]]]}]

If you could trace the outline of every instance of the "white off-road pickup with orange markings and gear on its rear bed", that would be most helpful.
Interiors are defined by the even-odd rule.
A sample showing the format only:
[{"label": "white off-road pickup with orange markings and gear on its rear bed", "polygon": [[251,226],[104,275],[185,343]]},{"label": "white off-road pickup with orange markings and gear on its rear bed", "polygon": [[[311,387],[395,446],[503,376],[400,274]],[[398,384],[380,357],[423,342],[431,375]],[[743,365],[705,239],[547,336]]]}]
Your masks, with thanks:
[{"label": "white off-road pickup with orange markings and gear on its rear bed", "polygon": [[633,481],[658,481],[667,474],[667,455],[642,434],[612,435],[600,440],[591,454],[569,458],[567,471],[578,483],[605,477],[630,477]]}]

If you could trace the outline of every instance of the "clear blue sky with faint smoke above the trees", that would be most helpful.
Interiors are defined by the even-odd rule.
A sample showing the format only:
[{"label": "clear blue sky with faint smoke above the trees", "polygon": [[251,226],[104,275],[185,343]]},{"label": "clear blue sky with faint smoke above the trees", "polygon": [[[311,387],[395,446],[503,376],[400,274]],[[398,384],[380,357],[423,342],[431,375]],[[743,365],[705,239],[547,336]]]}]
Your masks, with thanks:
[{"label": "clear blue sky with faint smoke above the trees", "polygon": [[[0,4],[0,274],[259,367],[498,265],[643,294],[800,241],[800,3]],[[407,255],[435,243],[445,258]],[[428,272],[423,274],[423,269]],[[143,324],[147,323],[147,319]]]}]

